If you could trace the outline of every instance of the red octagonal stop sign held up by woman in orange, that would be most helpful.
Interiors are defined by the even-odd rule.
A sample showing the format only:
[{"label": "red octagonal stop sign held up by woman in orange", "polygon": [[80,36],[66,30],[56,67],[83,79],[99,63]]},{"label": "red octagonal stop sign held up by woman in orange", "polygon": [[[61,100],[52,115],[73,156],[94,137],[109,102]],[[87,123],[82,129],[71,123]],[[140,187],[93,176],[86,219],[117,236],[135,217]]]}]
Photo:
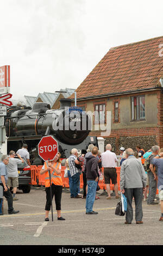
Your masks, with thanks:
[{"label": "red octagonal stop sign held up by woman in orange", "polygon": [[38,144],[39,156],[44,161],[53,161],[54,157],[58,153],[58,143],[52,136],[42,137]]}]

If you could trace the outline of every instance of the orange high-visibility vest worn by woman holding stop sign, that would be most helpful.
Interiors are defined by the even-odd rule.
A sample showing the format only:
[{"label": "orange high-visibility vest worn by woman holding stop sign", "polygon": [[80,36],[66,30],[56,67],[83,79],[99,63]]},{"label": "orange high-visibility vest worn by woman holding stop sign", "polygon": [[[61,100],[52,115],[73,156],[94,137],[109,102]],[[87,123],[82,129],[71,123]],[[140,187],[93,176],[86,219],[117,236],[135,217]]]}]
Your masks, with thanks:
[{"label": "orange high-visibility vest worn by woman holding stop sign", "polygon": [[[45,162],[45,169],[47,169],[47,163]],[[53,167],[56,169],[59,169],[60,163],[56,162],[53,164]],[[59,174],[55,173],[54,170],[51,170],[51,184],[57,185],[57,186],[62,186],[62,178]],[[50,187],[50,178],[49,178],[49,172],[45,173],[45,187]]]}]

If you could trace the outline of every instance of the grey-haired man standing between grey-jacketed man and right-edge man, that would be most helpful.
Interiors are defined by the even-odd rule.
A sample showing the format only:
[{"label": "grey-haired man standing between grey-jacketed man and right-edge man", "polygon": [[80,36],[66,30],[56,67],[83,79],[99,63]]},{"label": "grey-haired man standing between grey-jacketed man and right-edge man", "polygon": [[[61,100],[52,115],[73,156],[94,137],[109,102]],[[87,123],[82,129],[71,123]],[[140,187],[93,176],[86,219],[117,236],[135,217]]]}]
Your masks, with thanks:
[{"label": "grey-haired man standing between grey-jacketed man and right-edge man", "polygon": [[159,154],[159,149],[160,147],[158,145],[155,145],[152,147],[152,155],[149,156],[149,172],[148,178],[149,178],[149,192],[148,192],[148,199],[147,199],[147,204],[148,205],[156,205],[158,202],[154,201],[155,195],[156,195],[156,190],[157,190],[157,166],[154,166],[151,161],[152,159]]}]

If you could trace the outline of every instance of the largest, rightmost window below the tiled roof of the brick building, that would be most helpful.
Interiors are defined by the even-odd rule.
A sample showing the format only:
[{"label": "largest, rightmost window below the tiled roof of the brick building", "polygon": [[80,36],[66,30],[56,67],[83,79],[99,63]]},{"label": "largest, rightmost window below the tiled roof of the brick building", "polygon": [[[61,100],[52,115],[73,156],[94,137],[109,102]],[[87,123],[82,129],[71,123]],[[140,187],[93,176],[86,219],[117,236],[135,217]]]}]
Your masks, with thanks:
[{"label": "largest, rightmost window below the tiled roof of the brick building", "polygon": [[131,120],[144,120],[145,119],[145,96],[132,96],[131,97]]}]

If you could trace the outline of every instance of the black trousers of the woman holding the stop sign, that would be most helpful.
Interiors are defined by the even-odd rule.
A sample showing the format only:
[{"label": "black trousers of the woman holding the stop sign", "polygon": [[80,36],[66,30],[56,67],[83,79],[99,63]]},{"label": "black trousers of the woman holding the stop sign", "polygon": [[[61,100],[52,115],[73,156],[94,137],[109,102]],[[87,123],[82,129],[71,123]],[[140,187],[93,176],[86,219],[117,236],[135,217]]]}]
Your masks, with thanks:
[{"label": "black trousers of the woman holding the stop sign", "polygon": [[[51,210],[51,188],[46,187],[46,205],[45,210]],[[61,196],[62,196],[62,186],[57,186],[52,184],[52,200],[55,198],[56,210],[61,210]]]}]

